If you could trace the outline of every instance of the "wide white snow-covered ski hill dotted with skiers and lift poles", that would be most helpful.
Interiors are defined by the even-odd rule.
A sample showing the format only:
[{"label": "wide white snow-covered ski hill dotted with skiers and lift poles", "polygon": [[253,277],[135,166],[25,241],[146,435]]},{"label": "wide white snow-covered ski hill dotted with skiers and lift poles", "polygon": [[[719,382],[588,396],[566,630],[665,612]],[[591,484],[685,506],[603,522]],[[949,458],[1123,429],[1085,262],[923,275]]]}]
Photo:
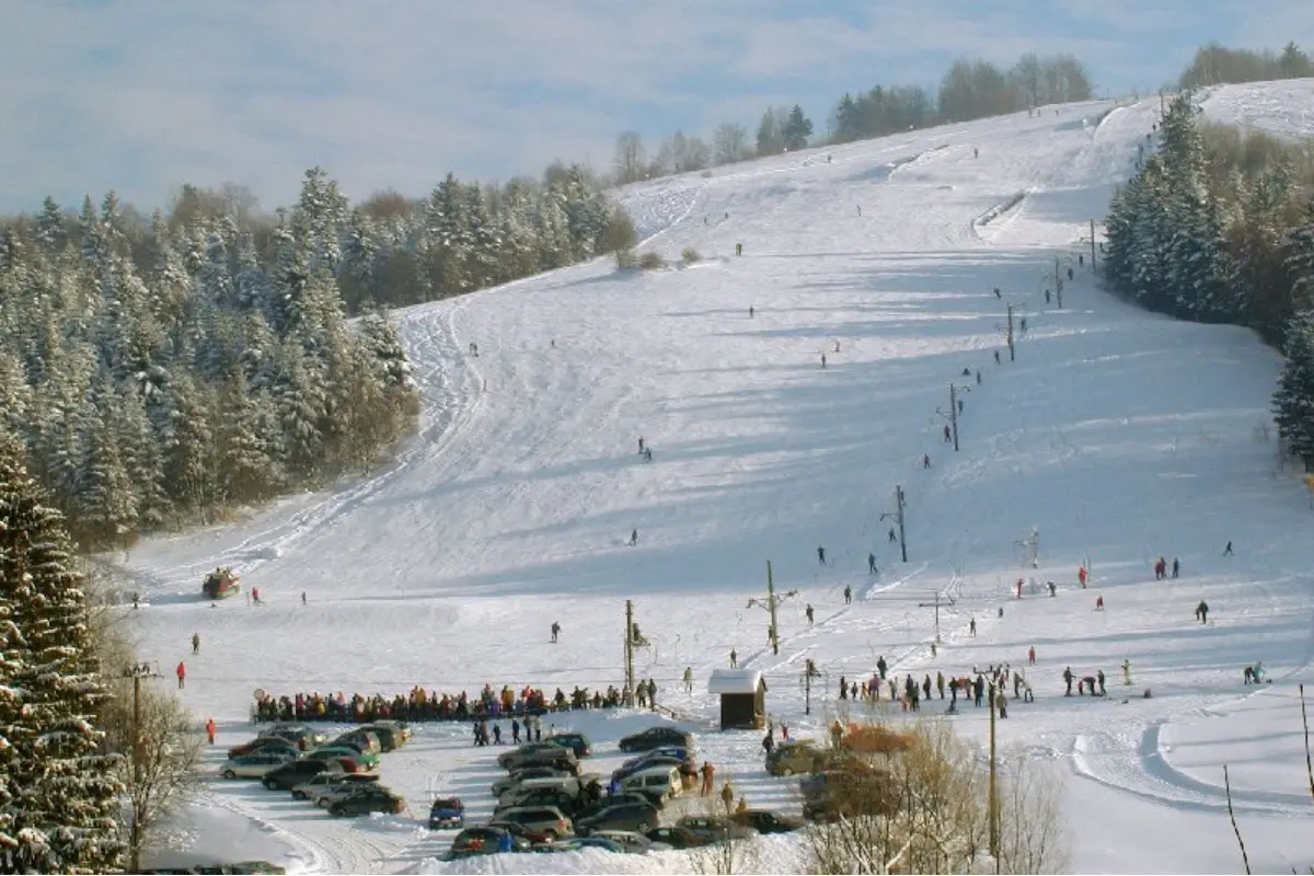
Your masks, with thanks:
[{"label": "wide white snow-covered ski hill dotted with skiers and lift poles", "polygon": [[[1219,89],[1209,109],[1235,116],[1273,93]],[[1293,102],[1248,118],[1311,133],[1309,89],[1300,104],[1292,89],[1276,100]],[[137,548],[126,565],[150,602],[133,616],[142,655],[166,668],[187,659],[184,700],[230,745],[251,733],[256,688],[619,683],[632,599],[654,644],[639,672],[658,700],[750,804],[792,808],[792,783],[761,768],[757,734],[710,730],[707,675],[731,649],[766,672],[775,720],[805,735],[840,713],[840,676],[870,675],[879,655],[920,679],[1020,666],[1034,646],[1037,701],[1016,704],[1000,738],[1062,764],[1076,869],[1236,871],[1222,762],[1256,869],[1314,863],[1293,699],[1311,679],[1311,511],[1298,479],[1275,473],[1261,431],[1277,357],[1242,330],[1112,299],[1081,242],[1156,114],[1158,99],[1051,108],[624,190],[644,251],[678,261],[694,247],[702,261],[643,274],[598,261],[398,313],[427,401],[419,436],[377,477]],[[1043,297],[1055,257],[1075,272],[1062,310]],[[1028,320],[1014,362],[1005,303]],[[968,389],[958,453],[937,412],[955,381]],[[652,464],[636,453],[640,436]],[[882,519],[895,485],[907,494],[907,563]],[[1030,570],[1020,542],[1033,528]],[[1236,553],[1225,558],[1229,540]],[[879,575],[867,574],[869,552]],[[1159,556],[1180,557],[1183,577],[1155,582]],[[746,607],[763,595],[767,559],[777,587],[799,591],[781,609],[779,654],[765,613]],[[221,563],[268,604],[198,600],[204,571]],[[1016,599],[1020,575],[1038,586]],[[1056,598],[1041,592],[1047,580]],[[954,602],[938,609],[932,658],[937,595]],[[1208,625],[1192,617],[1201,599]],[[825,676],[804,716],[808,658]],[[1254,661],[1271,687],[1242,687]],[[678,690],[686,666],[692,695]],[[1102,668],[1113,696],[1064,699],[1064,666]],[[953,720],[972,737],[987,724],[972,708]],[[650,718],[568,721],[593,737],[606,771],[620,759],[615,739]],[[439,791],[489,813],[497,775],[464,725],[418,726],[382,767],[417,818]],[[440,864],[430,859],[451,833],[409,818],[340,822],[246,784],[217,783],[206,805],[254,820],[306,871],[689,867],[602,854]],[[796,868],[798,854],[773,841],[759,867]]]}]

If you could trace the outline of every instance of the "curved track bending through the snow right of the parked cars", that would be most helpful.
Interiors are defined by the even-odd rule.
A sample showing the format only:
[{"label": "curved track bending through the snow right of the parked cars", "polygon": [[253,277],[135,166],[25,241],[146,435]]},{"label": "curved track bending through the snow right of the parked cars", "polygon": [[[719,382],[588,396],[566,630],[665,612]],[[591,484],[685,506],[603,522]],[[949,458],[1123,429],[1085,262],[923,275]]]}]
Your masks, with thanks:
[{"label": "curved track bending through the snow right of the parked cars", "polygon": [[[1116,704],[1110,701],[1110,708]],[[1177,809],[1226,812],[1222,787],[1200,781],[1168,763],[1160,747],[1160,720],[1141,732],[1135,743],[1105,730],[1083,733],[1072,742],[1072,767],[1079,776],[1108,788]],[[1306,795],[1233,789],[1233,808],[1252,814],[1306,816]]]}]

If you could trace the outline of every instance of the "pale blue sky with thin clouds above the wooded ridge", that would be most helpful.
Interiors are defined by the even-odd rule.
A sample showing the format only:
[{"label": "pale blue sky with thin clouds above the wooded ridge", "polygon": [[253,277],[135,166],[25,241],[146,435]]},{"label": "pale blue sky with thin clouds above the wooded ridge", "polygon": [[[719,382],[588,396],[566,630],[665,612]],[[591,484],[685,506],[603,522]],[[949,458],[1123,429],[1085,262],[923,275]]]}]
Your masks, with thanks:
[{"label": "pale blue sky with thin clouds above the wooded ridge", "polygon": [[265,209],[325,167],[360,200],[448,172],[611,165],[845,92],[934,87],[959,56],[1071,53],[1100,93],[1175,79],[1194,49],[1314,50],[1310,0],[0,0],[0,213],[183,183]]}]

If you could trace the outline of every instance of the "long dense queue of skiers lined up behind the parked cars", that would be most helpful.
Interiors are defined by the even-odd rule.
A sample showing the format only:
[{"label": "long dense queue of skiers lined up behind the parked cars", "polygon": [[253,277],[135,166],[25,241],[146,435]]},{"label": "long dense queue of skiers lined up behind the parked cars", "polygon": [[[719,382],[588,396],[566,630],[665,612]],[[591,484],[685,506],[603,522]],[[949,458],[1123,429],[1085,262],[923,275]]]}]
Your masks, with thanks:
[{"label": "long dense queue of skiers lined up behind the parked cars", "polygon": [[[656,687],[656,686],[654,686]],[[607,709],[622,703],[622,692],[608,686],[606,692],[576,687],[566,693],[560,687],[552,696],[536,687],[515,690],[510,686],[494,691],[485,686],[478,696],[439,693],[414,687],[409,693],[347,696],[330,693],[297,693],[272,696],[263,693],[251,709],[252,721],[339,721],[368,724],[382,718],[406,721],[470,721],[541,716],[572,709]]]}]

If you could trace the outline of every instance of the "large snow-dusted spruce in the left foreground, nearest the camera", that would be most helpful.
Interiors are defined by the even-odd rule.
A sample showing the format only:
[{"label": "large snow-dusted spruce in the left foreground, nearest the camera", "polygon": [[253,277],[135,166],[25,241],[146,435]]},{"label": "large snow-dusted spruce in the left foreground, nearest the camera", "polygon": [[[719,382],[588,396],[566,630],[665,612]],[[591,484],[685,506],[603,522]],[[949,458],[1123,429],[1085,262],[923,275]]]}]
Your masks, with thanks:
[{"label": "large snow-dusted spruce in the left foreground, nearest the camera", "polygon": [[95,716],[106,696],[62,515],[0,437],[0,871],[122,865],[117,755]]}]

